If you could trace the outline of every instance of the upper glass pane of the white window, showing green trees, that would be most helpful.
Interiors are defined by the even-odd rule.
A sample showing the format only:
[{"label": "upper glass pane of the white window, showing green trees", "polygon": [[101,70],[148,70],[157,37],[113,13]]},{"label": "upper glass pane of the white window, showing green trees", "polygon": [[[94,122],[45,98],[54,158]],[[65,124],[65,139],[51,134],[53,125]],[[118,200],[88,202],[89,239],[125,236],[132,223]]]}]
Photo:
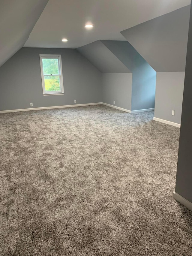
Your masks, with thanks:
[{"label": "upper glass pane of the white window, showing green trees", "polygon": [[58,75],[58,59],[42,59],[44,75]]}]

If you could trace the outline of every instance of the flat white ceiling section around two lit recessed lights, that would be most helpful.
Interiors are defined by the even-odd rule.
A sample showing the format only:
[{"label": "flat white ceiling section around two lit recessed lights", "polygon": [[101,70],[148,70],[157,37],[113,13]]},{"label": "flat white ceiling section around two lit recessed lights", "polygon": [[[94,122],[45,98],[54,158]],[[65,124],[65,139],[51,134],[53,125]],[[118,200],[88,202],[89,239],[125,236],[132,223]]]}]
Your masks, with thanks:
[{"label": "flat white ceiling section around two lit recessed lights", "polygon": [[[189,4],[190,0],[49,0],[25,47],[77,48],[97,40],[125,40],[120,31]],[[89,31],[84,28],[88,21],[94,25]]]}]

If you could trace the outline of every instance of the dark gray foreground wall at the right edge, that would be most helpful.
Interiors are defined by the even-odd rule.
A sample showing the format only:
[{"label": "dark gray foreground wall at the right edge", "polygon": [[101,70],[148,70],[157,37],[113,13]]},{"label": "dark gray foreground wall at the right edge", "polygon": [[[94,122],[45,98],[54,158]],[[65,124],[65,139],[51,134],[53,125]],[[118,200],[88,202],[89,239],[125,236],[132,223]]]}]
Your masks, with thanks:
[{"label": "dark gray foreground wall at the right edge", "polygon": [[185,69],[176,192],[192,203],[192,3]]}]

